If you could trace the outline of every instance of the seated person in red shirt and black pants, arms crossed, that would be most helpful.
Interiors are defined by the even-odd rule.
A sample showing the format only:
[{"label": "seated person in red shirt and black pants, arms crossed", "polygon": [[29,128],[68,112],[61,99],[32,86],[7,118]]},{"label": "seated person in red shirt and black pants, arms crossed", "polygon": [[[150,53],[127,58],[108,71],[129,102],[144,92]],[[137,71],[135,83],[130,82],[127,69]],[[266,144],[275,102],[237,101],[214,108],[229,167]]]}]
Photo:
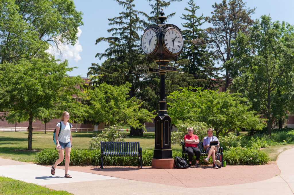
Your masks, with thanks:
[{"label": "seated person in red shirt and black pants, arms crossed", "polygon": [[197,135],[193,135],[193,128],[188,129],[188,134],[185,135],[184,140],[186,143],[187,147],[187,153],[189,157],[189,165],[188,168],[191,168],[192,166],[192,160],[193,160],[193,155],[194,153],[196,154],[196,167],[200,167],[199,165],[199,160],[200,160],[200,155],[201,151],[199,150],[197,144],[199,143],[199,139]]}]

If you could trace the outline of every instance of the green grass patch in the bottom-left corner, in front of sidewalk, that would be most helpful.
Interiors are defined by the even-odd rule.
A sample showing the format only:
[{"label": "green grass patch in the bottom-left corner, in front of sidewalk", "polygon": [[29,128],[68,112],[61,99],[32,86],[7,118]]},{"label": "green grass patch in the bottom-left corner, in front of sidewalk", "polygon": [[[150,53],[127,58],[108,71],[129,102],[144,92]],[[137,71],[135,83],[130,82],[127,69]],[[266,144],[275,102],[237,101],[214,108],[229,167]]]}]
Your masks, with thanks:
[{"label": "green grass patch in the bottom-left corner, in front of sidewalk", "polygon": [[73,195],[67,191],[56,191],[37,184],[29,184],[8,177],[0,177],[1,195],[12,194],[46,194],[46,195]]}]

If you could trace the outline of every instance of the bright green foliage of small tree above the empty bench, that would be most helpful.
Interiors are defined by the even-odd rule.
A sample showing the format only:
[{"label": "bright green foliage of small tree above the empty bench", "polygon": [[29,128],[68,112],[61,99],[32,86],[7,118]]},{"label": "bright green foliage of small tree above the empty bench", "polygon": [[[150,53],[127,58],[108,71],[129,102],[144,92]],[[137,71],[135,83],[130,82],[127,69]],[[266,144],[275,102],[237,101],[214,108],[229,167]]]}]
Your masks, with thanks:
[{"label": "bright green foliage of small tree above the empty bench", "polygon": [[151,122],[153,115],[140,108],[136,97],[129,99],[131,84],[120,86],[100,84],[89,91],[89,120],[107,125],[125,124],[134,128],[145,128],[142,123]]}]

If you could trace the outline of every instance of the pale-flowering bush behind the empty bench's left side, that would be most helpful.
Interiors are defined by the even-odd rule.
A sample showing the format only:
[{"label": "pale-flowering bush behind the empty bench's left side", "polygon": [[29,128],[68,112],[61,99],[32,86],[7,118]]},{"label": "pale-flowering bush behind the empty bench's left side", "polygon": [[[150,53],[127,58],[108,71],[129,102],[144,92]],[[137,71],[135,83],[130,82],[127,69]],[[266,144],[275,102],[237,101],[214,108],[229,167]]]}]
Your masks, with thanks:
[{"label": "pale-flowering bush behind the empty bench's left side", "polygon": [[127,136],[122,134],[120,130],[122,127],[120,125],[113,125],[104,128],[102,133],[97,134],[97,137],[93,137],[90,140],[89,149],[99,149],[100,150],[100,142],[125,142],[123,138]]}]

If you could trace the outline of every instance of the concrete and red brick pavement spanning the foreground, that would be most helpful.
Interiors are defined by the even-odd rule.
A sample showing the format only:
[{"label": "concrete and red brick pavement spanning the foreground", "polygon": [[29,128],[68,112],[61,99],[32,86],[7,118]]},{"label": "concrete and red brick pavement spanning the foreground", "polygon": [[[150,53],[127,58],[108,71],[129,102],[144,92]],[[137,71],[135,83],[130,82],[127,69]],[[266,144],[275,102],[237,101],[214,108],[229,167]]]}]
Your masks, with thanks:
[{"label": "concrete and red brick pavement spanning the foreground", "polygon": [[[0,159],[0,175],[10,177],[21,181],[35,183],[42,186],[49,187],[55,190],[66,190],[76,195],[91,195],[91,194],[207,194],[207,195],[293,195],[294,191],[294,148],[282,152],[277,160],[277,167],[280,169],[280,174],[275,174],[274,166],[260,165],[252,166],[245,169],[246,166],[227,166],[215,170],[210,167],[194,168],[194,169],[136,169],[131,168],[115,168],[99,169],[97,167],[70,167],[69,174],[73,178],[64,178],[64,170],[56,169],[56,174],[50,174],[50,167],[35,165],[31,163],[23,163],[13,160]],[[232,169],[233,167],[234,169]],[[266,168],[267,167],[267,168]],[[74,171],[74,169],[79,171]],[[243,180],[245,169],[248,177]],[[258,170],[260,169],[260,170]],[[106,171],[105,171],[106,170]],[[115,170],[115,171],[111,171]],[[83,172],[81,172],[83,171]],[[235,183],[236,185],[221,185],[206,187],[201,186],[206,183],[201,175],[211,175],[222,172],[223,179],[234,179],[240,177]],[[191,184],[183,182],[183,178],[179,179],[179,173],[189,173],[191,177]],[[95,173],[95,174],[93,174]],[[268,177],[258,182],[250,182],[258,178],[261,173],[272,174],[271,176],[265,174],[262,177]],[[104,175],[102,175],[104,174]],[[107,176],[108,175],[108,176]],[[195,177],[193,178],[193,175]],[[243,176],[242,176],[243,175]],[[112,177],[110,177],[112,176]],[[158,177],[160,177],[158,181]],[[217,177],[217,175],[216,175]],[[260,178],[262,178],[260,176]],[[157,180],[157,181],[156,181]],[[168,180],[168,182],[164,182]],[[199,181],[199,182],[198,182]],[[248,181],[250,183],[248,183]],[[242,184],[241,184],[242,183]],[[203,186],[203,185],[202,185]]]}]

